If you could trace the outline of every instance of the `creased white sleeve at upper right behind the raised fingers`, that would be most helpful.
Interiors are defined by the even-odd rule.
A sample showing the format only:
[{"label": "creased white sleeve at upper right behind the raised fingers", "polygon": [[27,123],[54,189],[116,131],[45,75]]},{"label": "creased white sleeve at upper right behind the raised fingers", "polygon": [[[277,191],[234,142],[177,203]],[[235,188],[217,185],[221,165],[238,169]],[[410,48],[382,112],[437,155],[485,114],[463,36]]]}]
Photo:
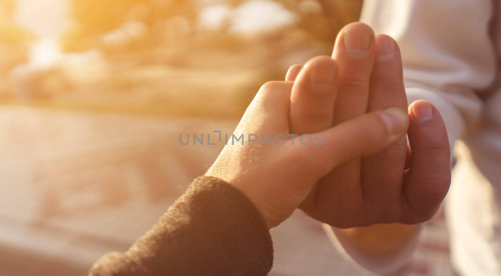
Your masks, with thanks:
[{"label": "creased white sleeve at upper right behind the raised fingers", "polygon": [[495,79],[491,0],[366,0],[361,21],[399,44],[409,104],[423,99],[442,115],[451,147],[478,119],[479,91]]}]

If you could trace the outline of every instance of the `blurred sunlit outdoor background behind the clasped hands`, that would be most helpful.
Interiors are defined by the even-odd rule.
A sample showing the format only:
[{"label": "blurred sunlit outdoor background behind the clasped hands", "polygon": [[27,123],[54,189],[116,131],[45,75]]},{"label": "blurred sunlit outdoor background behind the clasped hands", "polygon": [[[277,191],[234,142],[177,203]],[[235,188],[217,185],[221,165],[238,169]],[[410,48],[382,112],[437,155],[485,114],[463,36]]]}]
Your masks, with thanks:
[{"label": "blurred sunlit outdoor background behind the clasped hands", "polygon": [[[0,275],[85,275],[150,228],[259,87],[330,55],[361,0],[0,0]],[[395,275],[452,275],[439,213]],[[270,275],[370,275],[296,212]]]}]

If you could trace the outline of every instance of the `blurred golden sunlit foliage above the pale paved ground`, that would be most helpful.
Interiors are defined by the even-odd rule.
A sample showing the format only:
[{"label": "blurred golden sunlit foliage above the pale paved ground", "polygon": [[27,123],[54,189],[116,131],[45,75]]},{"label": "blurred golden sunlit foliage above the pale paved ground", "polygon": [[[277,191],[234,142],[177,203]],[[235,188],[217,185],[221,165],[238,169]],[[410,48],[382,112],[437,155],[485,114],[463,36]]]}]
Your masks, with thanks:
[{"label": "blurred golden sunlit foliage above the pale paved ground", "polygon": [[[56,107],[239,117],[263,83],[282,80],[292,64],[330,55],[362,3],[275,0],[297,20],[242,35],[229,29],[234,14],[219,29],[200,26],[200,0],[68,1],[75,24],[59,38],[65,55],[37,67],[27,63],[28,46],[19,47],[30,45],[31,34],[10,19],[16,0],[0,0],[0,27],[7,26],[0,56],[9,57],[0,59],[0,83],[10,74],[12,84],[0,85],[0,99],[11,89],[11,97]],[[234,11],[246,1],[213,2]]]}]

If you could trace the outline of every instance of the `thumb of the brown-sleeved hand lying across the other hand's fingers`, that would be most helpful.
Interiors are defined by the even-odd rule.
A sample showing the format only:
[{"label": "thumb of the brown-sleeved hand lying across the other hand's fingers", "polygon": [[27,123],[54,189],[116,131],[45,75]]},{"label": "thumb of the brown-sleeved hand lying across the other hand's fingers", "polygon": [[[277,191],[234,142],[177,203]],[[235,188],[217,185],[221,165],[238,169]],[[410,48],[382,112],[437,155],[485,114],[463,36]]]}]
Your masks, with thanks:
[{"label": "thumb of the brown-sleeved hand lying across the other hand's fingers", "polygon": [[405,135],[409,119],[407,112],[390,107],[347,120],[326,131],[314,134],[323,143],[300,147],[309,151],[317,177],[321,178],[336,166],[355,157],[376,154]]}]

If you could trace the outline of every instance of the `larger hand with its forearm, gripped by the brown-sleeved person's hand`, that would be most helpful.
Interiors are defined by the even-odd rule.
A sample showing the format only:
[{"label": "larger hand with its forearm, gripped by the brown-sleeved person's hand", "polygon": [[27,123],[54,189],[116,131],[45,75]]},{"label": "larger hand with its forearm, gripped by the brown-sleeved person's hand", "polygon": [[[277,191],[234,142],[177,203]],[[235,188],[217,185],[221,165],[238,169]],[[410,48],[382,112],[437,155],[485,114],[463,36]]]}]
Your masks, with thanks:
[{"label": "larger hand with its forearm, gripped by the brown-sleeved person's hand", "polygon": [[[325,60],[317,57],[310,63],[320,58]],[[391,37],[374,36],[362,23],[350,24],[340,32],[332,59],[337,80],[331,94],[321,97],[302,85],[308,82],[303,74],[307,67],[290,68],[286,80],[295,81],[293,131],[321,131],[365,112],[407,108],[400,51]],[[294,101],[300,98],[309,100]],[[312,217],[338,227],[334,233],[345,250],[371,270],[394,268],[410,254],[420,230],[415,223],[436,212],[450,183],[449,146],[440,114],[430,103],[416,101],[408,116],[412,152],[402,137],[377,154],[354,158],[322,178],[301,204]]]}]

